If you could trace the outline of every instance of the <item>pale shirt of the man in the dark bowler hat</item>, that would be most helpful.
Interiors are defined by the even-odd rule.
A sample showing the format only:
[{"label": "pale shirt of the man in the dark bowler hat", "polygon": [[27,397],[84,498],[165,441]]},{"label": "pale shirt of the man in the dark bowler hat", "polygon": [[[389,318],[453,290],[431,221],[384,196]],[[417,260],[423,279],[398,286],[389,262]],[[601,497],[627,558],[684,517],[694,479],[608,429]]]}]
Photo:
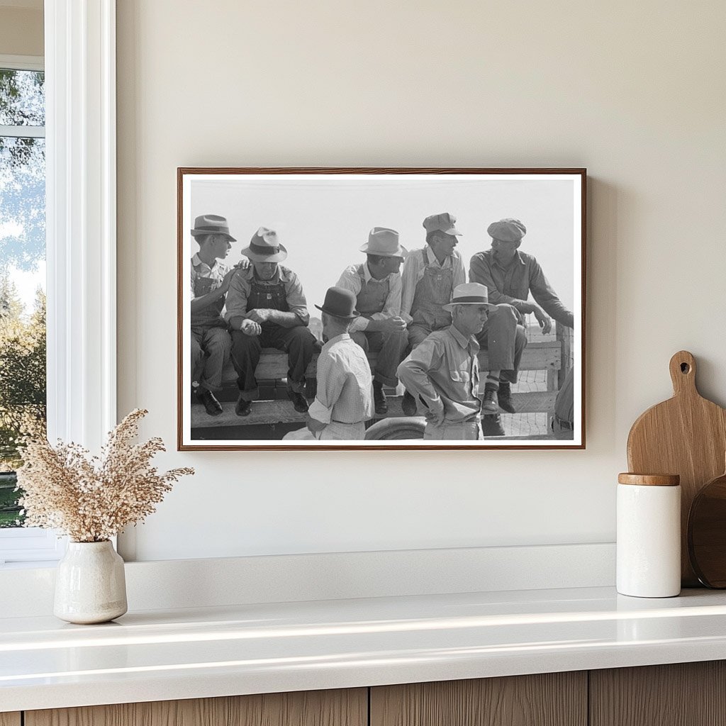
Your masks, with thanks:
[{"label": "pale shirt of the man in the dark bowler hat", "polygon": [[317,362],[317,394],[309,414],[322,423],[373,417],[372,376],[363,348],[348,333],[328,340]]}]

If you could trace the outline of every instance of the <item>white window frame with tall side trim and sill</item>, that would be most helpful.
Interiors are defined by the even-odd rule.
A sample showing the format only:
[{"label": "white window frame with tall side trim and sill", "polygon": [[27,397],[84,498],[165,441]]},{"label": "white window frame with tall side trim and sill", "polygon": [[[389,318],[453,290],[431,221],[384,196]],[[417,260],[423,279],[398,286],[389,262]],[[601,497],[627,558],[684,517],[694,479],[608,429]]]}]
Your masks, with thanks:
[{"label": "white window frame with tall side trim and sill", "polygon": [[[45,0],[48,436],[98,451],[116,423],[115,0]],[[11,68],[5,65],[5,68]],[[65,538],[0,531],[0,566]]]}]

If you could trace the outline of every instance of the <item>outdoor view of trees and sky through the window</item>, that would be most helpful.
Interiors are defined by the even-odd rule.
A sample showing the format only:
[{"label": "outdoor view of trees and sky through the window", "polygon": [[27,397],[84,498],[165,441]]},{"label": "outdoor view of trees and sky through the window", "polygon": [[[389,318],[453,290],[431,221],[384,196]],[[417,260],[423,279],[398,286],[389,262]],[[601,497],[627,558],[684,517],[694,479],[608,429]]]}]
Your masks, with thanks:
[{"label": "outdoor view of trees and sky through the window", "polygon": [[19,438],[46,420],[44,73],[0,68],[0,528],[22,524]]}]

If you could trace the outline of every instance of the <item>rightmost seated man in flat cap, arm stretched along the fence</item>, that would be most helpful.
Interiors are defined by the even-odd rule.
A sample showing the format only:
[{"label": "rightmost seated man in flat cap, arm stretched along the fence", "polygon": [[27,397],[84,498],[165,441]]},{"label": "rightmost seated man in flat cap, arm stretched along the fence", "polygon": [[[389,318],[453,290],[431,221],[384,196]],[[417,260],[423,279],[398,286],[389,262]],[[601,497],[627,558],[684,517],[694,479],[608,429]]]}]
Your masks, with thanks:
[{"label": "rightmost seated man in flat cap, arm stretched along the fence", "polygon": [[[527,232],[524,224],[518,219],[500,219],[492,222],[486,232],[492,238],[492,246],[471,258],[469,280],[485,285],[489,300],[497,304],[497,311],[489,316],[477,340],[489,352],[484,433],[502,435],[498,408],[509,413],[516,410],[511,400],[511,383],[517,382],[527,344],[524,314],[534,314],[545,335],[552,330],[550,317],[567,327],[573,327],[574,322],[572,313],[544,277],[537,259],[518,250]],[[530,293],[534,302],[528,300]]]}]

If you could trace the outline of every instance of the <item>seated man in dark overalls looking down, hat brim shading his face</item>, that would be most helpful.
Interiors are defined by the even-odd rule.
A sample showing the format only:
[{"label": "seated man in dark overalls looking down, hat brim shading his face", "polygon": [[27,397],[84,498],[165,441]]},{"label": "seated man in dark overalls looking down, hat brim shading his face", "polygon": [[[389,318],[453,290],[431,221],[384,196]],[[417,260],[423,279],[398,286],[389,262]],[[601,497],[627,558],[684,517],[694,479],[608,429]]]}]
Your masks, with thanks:
[{"label": "seated man in dark overalls looking down, hat brim shading his face", "polygon": [[[248,416],[259,391],[255,369],[262,348],[287,352],[287,395],[295,411],[308,409],[305,400],[305,370],[310,363],[316,340],[307,325],[310,314],[298,276],[280,264],[287,250],[277,232],[260,227],[242,255],[252,263],[232,277],[227,293],[227,322],[232,329],[232,363],[237,371],[240,396],[234,411]],[[257,323],[259,335],[245,335],[246,321]]]}]

